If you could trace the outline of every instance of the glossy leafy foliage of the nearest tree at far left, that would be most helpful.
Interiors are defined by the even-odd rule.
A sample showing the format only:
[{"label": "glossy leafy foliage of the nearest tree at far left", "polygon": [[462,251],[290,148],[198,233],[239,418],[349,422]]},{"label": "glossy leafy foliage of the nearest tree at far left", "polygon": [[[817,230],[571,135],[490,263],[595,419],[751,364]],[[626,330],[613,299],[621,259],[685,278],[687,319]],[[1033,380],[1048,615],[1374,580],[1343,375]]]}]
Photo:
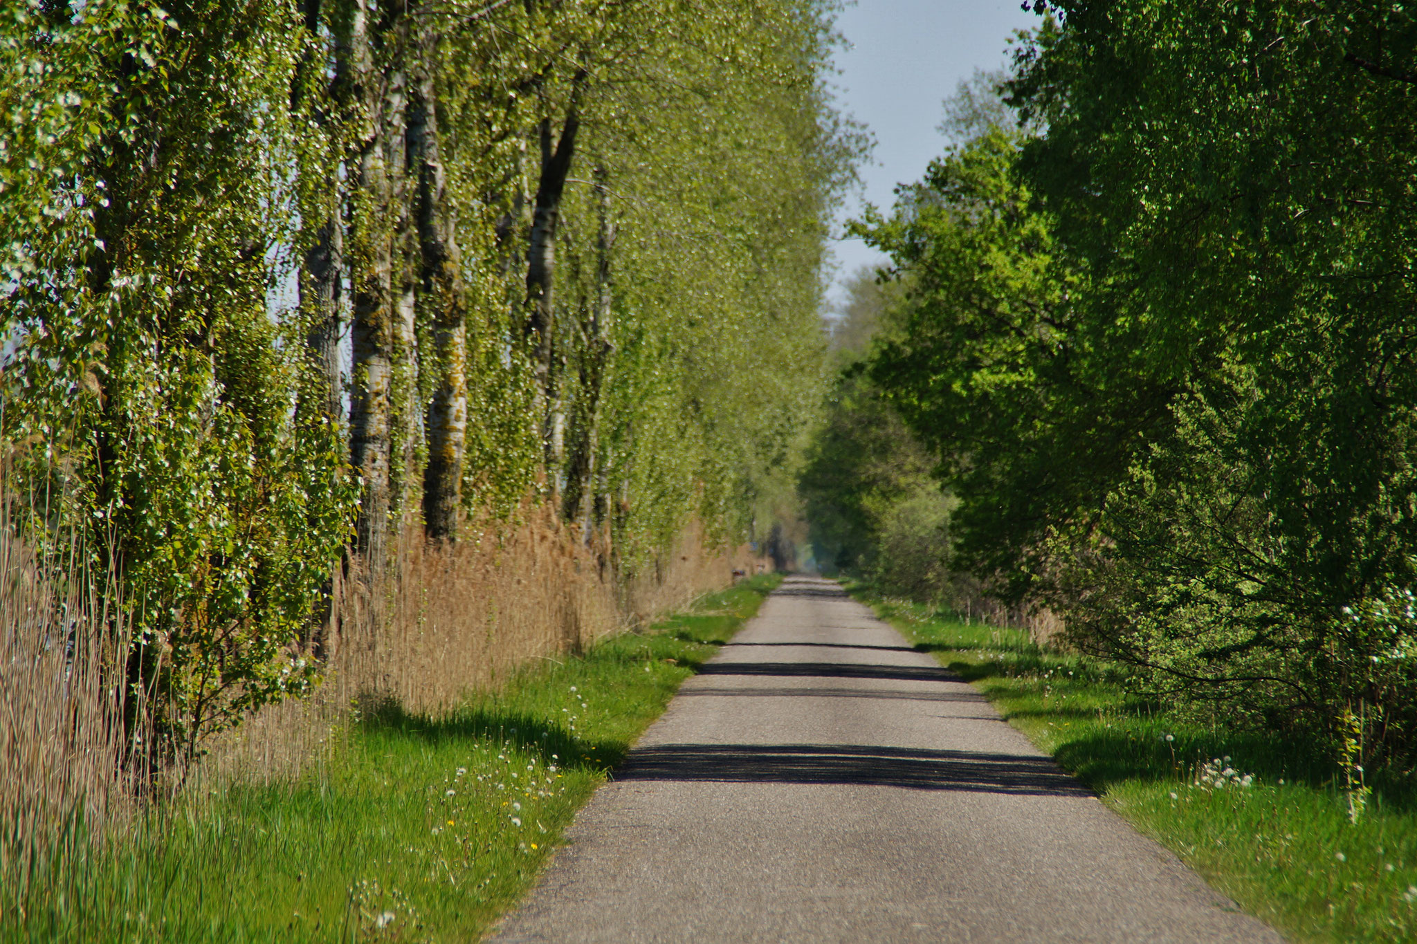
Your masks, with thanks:
[{"label": "glossy leafy foliage of the nearest tree at far left", "polygon": [[279,3],[6,17],[0,68],[27,76],[0,130],[6,485],[31,539],[78,532],[120,579],[126,716],[150,701],[152,747],[190,752],[312,682],[299,643],[353,508],[337,429],[295,420],[296,318],[268,304],[303,33]]}]

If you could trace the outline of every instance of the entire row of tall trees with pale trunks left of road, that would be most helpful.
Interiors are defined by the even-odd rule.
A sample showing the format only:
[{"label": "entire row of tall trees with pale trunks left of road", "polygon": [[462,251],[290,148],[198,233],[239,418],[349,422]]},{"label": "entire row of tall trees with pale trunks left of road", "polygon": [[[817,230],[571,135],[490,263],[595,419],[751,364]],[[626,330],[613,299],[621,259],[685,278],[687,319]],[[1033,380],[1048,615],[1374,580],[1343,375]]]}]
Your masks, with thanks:
[{"label": "entire row of tall trees with pale trunks left of road", "polygon": [[530,494],[622,576],[740,535],[819,374],[829,16],[6,4],[6,501],[122,587],[130,713],[307,688],[346,548]]}]

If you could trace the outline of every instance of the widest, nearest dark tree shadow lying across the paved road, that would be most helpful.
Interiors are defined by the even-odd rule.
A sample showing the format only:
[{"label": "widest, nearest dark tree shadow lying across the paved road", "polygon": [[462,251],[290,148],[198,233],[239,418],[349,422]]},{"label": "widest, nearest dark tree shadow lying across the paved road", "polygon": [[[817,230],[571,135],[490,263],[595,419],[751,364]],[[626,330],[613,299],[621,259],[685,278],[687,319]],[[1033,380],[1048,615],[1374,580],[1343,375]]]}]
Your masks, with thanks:
[{"label": "widest, nearest dark tree shadow lying across the paved road", "polygon": [[1088,797],[1047,757],[859,744],[663,744],[631,752],[616,780],[857,784]]}]

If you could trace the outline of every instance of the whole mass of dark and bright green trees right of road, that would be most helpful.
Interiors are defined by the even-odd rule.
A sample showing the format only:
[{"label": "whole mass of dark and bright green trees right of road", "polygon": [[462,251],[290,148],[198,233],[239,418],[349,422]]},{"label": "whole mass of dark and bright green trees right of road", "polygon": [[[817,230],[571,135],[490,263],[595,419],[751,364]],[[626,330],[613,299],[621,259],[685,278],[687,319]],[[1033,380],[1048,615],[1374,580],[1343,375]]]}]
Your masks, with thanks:
[{"label": "whole mass of dark and bright green trees right of road", "polygon": [[[1417,743],[1417,20],[1064,0],[862,232],[956,560],[1159,696]],[[1034,129],[1033,132],[1027,129]]]}]

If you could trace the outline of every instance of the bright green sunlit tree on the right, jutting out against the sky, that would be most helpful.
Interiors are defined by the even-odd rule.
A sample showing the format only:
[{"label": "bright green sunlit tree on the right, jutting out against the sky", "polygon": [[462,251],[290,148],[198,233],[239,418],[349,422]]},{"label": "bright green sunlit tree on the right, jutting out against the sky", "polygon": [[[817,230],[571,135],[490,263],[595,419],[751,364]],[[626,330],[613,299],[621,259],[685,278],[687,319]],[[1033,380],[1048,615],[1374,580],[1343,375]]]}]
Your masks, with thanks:
[{"label": "bright green sunlit tree on the right, jutting out against the sky", "polygon": [[1023,582],[1037,566],[1027,551],[1040,505],[1085,508],[1068,493],[1080,461],[1071,453],[1098,461],[1110,418],[1070,410],[1056,418],[1064,434],[1020,422],[1060,401],[1071,408],[1057,391],[1077,378],[1060,344],[1068,280],[1049,218],[1013,173],[1019,143],[990,127],[931,163],[890,219],[870,214],[856,229],[910,279],[901,328],[873,357],[871,376],[961,498],[961,559]]}]

